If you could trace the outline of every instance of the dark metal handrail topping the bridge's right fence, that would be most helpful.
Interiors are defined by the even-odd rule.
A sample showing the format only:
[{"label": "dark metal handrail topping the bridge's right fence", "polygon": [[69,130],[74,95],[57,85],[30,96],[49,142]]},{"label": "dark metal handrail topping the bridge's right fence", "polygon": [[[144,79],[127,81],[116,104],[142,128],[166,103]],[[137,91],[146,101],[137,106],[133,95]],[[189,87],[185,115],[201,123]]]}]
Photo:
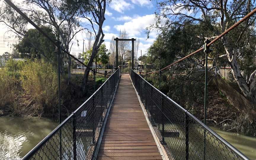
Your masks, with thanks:
[{"label": "dark metal handrail topping the bridge's right fence", "polygon": [[[132,72],[134,72],[134,74],[137,74],[134,70],[131,69]],[[181,107],[180,105],[178,105],[175,101],[173,101],[171,98],[169,98],[167,95],[165,95],[164,93],[162,93],[161,91],[159,91],[159,89],[157,89],[155,86],[153,86],[152,84],[150,84],[148,81],[146,81],[142,76],[140,76],[139,74],[137,74],[137,76],[139,76],[141,79],[143,79],[143,81],[145,81],[147,84],[149,84],[151,87],[153,87],[154,89],[156,89],[157,92],[159,92],[160,94],[162,94],[164,97],[166,97],[168,100],[170,100],[173,104],[175,104],[180,110],[183,110],[185,112],[186,115],[188,115],[189,117],[191,117],[193,120],[195,120],[199,125],[201,125],[202,128],[204,128],[205,130],[207,130],[210,134],[214,135],[221,143],[223,143],[227,148],[229,148],[231,151],[233,151],[237,156],[239,156],[241,159],[243,160],[249,160],[247,158],[247,156],[245,156],[244,154],[242,154],[239,150],[237,150],[233,145],[231,145],[230,143],[228,143],[225,139],[223,139],[220,135],[218,135],[217,133],[215,133],[212,129],[210,129],[207,125],[205,125],[204,123],[202,123],[198,118],[196,118],[195,116],[193,116],[190,112],[188,112],[186,109],[184,109],[183,107]]]}]

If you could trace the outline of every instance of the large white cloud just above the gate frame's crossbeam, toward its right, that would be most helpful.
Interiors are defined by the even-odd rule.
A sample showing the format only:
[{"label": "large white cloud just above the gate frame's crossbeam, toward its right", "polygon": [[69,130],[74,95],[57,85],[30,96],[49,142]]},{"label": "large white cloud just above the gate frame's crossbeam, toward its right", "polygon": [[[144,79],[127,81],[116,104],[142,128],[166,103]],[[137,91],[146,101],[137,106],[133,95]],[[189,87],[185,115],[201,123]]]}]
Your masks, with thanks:
[{"label": "large white cloud just above the gate frame's crossbeam, toward its right", "polygon": [[117,31],[125,29],[129,36],[138,37],[143,32],[145,33],[146,27],[154,23],[154,14],[149,14],[132,19],[129,22],[125,22],[123,25],[115,25]]}]

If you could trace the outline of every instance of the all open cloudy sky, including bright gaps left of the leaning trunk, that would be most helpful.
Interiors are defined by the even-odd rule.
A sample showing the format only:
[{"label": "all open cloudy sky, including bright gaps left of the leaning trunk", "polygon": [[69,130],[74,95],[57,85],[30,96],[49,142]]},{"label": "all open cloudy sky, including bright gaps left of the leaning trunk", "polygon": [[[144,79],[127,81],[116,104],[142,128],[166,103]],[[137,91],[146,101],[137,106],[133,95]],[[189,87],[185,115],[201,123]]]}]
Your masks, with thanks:
[{"label": "all open cloudy sky, including bright gaps left of the leaning trunk", "polygon": [[[19,2],[20,0],[16,0]],[[15,1],[14,1],[15,3]],[[105,34],[105,45],[109,48],[112,36],[118,37],[120,30],[125,29],[129,38],[140,39],[139,50],[145,54],[147,49],[156,39],[156,32],[150,33],[147,39],[146,27],[154,23],[155,1],[149,0],[112,0],[106,8],[103,32]],[[8,38],[10,33],[5,33],[7,27],[0,25],[0,55],[4,52],[12,52],[11,44],[17,43],[14,37]],[[83,50],[83,38],[85,33],[79,33],[71,44],[71,54],[77,55]],[[87,43],[85,41],[85,43]],[[130,42],[131,43],[131,42]],[[85,44],[86,45],[86,44]]]}]

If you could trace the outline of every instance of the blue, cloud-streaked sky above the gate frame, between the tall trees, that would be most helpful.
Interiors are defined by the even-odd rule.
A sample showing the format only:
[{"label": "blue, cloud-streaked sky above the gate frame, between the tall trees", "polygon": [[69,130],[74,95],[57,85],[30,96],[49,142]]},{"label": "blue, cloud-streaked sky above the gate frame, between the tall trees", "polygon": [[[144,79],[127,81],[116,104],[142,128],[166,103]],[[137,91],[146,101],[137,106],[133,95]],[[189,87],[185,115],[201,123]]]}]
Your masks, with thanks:
[{"label": "blue, cloud-streaked sky above the gate frame, between the tall trees", "polygon": [[154,23],[156,1],[149,0],[112,0],[107,6],[103,31],[105,44],[109,47],[111,37],[118,37],[119,31],[125,29],[129,38],[140,39],[139,50],[143,54],[156,38],[156,32],[147,39],[145,28]]}]

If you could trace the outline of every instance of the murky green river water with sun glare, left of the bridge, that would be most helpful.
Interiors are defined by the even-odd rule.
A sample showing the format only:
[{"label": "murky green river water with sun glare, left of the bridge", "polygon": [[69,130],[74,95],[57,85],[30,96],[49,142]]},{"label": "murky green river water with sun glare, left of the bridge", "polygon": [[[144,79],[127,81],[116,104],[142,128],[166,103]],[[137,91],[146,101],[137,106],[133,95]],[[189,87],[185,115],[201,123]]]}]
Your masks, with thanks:
[{"label": "murky green river water with sun glare, left of the bridge", "polygon": [[48,118],[0,117],[0,159],[21,159],[57,125]]}]

